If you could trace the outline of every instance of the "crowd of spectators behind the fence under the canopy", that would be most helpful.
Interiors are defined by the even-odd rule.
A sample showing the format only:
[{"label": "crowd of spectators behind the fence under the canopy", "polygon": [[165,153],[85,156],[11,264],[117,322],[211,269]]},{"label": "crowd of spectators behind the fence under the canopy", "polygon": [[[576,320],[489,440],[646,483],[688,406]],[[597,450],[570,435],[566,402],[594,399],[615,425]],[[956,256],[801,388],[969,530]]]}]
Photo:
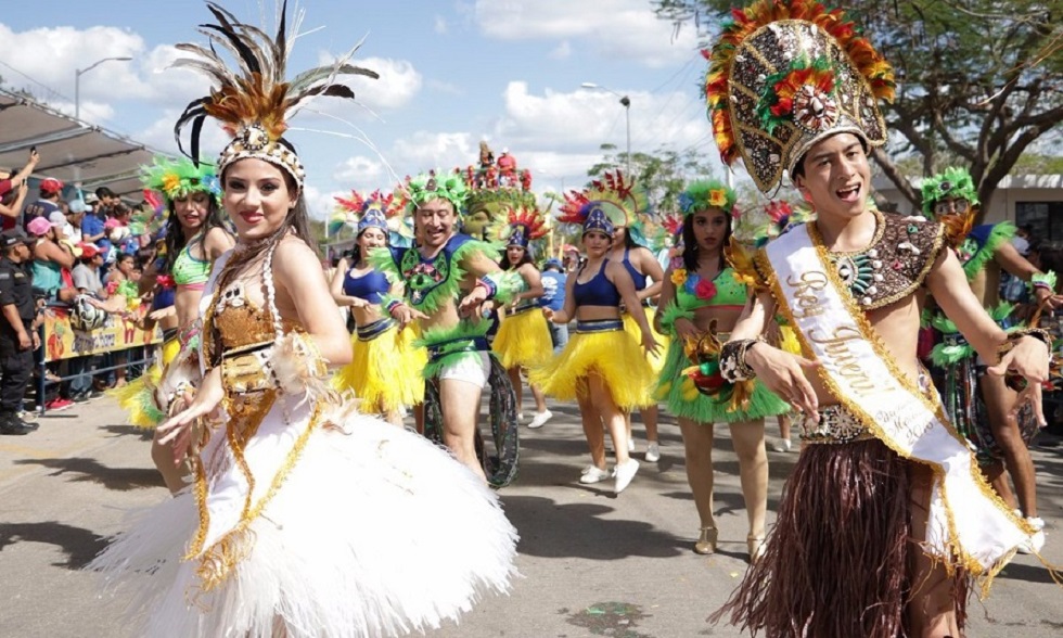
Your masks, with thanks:
[{"label": "crowd of spectators behind the fence under the canopy", "polygon": [[[31,318],[26,312],[21,318],[17,314],[9,316],[7,306],[15,305],[10,298],[13,293],[7,285],[0,285],[0,305],[5,306],[0,318],[0,337],[7,335],[4,341],[14,344],[11,349],[18,354],[26,349],[17,347],[20,328],[35,335],[30,344],[33,378],[27,378],[30,382],[22,390],[24,397],[41,387],[39,374],[44,349],[39,347],[37,334],[46,312],[65,309],[74,328],[84,332],[102,328],[108,314],[146,327],[144,318],[138,315],[140,302],[150,298],[141,298],[135,284],[158,257],[165,234],[165,231],[153,234],[153,225],[140,221],[152,217],[154,209],[150,203],[133,208],[107,187],[86,192],[46,177],[31,188],[30,176],[39,161],[40,156],[33,150],[22,169],[0,170],[4,238],[0,243],[4,253],[0,259],[0,284],[8,281],[2,275],[4,267],[14,273],[12,281],[22,278],[31,281]],[[25,259],[18,256],[20,245],[28,247]],[[151,291],[146,292],[145,297],[150,297]],[[138,302],[130,303],[131,296]],[[28,323],[15,326],[20,319]],[[0,350],[3,346],[0,343]],[[127,377],[132,378],[142,370],[139,365],[125,365],[144,358],[143,348],[132,349],[136,352],[108,352],[49,362],[43,380],[46,396],[34,398],[44,409],[60,410],[124,385]],[[22,377],[25,363],[18,359],[14,361],[10,353],[0,352],[5,377],[10,377],[8,368],[17,369],[15,377]],[[4,433],[34,428],[33,414],[21,406],[20,401],[15,421],[7,412],[0,416]]]}]

